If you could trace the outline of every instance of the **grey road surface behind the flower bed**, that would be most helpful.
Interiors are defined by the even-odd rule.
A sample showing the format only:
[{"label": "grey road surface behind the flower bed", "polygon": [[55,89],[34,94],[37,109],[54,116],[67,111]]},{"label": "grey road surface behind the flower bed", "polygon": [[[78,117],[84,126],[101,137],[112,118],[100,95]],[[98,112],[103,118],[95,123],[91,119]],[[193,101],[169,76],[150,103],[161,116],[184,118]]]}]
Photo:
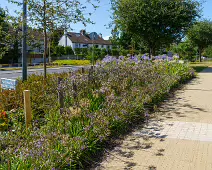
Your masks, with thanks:
[{"label": "grey road surface behind the flower bed", "polygon": [[[80,67],[72,66],[72,67],[59,67],[59,68],[47,68],[47,73],[62,73],[68,72],[70,70],[77,70]],[[39,69],[28,69],[28,75],[30,74],[43,74],[43,68]],[[22,77],[21,70],[11,70],[11,71],[0,71],[0,79],[1,78],[8,78],[8,79],[17,79]]]}]

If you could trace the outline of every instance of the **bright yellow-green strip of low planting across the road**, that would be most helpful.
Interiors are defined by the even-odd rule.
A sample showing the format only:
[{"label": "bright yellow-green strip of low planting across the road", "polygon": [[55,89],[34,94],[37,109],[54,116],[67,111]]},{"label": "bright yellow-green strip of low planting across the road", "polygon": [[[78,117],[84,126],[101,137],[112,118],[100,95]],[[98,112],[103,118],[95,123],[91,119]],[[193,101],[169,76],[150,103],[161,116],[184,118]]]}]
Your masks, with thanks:
[{"label": "bright yellow-green strip of low planting across the road", "polygon": [[56,60],[53,62],[53,64],[83,66],[83,65],[89,65],[90,61],[89,60]]}]

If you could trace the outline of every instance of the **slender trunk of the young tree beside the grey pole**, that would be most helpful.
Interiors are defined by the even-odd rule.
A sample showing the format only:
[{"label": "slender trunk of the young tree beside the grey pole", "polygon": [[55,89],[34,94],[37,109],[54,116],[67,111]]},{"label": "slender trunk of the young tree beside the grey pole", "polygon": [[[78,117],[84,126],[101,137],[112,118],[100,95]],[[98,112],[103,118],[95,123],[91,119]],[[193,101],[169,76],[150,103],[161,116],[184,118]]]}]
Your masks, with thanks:
[{"label": "slender trunk of the young tree beside the grey pole", "polygon": [[44,54],[43,54],[43,67],[44,67],[44,79],[46,79],[46,54],[47,54],[47,33],[46,33],[46,0],[43,2],[43,31],[44,31]]}]

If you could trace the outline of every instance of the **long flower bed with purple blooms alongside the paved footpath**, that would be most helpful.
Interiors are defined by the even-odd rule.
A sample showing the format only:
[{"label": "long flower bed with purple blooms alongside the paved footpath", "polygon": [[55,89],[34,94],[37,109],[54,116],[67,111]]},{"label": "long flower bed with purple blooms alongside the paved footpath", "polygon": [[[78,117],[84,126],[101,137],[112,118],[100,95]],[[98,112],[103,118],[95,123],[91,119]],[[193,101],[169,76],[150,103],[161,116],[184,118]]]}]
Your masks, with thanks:
[{"label": "long flower bed with purple blooms alongside the paved footpath", "polygon": [[[144,119],[172,88],[194,77],[190,67],[179,63],[103,61],[84,74],[48,75],[45,82],[32,75],[19,83],[13,103],[2,104],[18,110],[8,113],[8,131],[0,134],[0,169],[83,169],[105,141]],[[63,78],[59,86],[57,76]],[[24,127],[22,100],[17,100],[23,89],[32,91],[30,130]],[[57,91],[64,96],[62,109]]]}]

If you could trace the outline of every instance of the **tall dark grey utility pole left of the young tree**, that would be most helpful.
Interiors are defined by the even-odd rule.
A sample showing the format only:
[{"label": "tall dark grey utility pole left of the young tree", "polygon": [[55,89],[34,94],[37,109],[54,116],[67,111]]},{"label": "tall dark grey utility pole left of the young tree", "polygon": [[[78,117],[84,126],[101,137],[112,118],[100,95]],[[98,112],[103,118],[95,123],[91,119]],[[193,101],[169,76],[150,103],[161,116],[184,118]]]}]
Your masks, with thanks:
[{"label": "tall dark grey utility pole left of the young tree", "polygon": [[23,0],[23,24],[22,24],[22,81],[27,80],[27,4]]}]

